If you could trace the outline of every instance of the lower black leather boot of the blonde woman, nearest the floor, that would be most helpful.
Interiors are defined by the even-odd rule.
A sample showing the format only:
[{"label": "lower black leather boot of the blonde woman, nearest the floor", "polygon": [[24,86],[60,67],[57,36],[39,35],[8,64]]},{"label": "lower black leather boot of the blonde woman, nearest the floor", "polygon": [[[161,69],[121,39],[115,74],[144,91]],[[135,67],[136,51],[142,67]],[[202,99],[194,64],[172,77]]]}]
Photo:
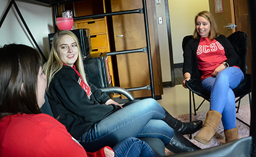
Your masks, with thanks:
[{"label": "lower black leather boot of the blonde woman, nearest the floor", "polygon": [[183,153],[201,149],[176,131],[173,134],[173,138],[167,145],[165,145],[165,147],[173,153]]}]

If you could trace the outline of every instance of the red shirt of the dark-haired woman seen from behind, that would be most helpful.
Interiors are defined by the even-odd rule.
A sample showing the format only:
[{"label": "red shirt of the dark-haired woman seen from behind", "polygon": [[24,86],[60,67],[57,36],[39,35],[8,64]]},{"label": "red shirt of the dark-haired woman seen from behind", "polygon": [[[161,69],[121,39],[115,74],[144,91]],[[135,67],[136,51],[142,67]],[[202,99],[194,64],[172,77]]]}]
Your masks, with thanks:
[{"label": "red shirt of the dark-haired woman seen from behind", "polygon": [[[105,156],[103,148],[88,156]],[[86,151],[49,115],[18,114],[0,121],[0,156],[83,156]]]}]

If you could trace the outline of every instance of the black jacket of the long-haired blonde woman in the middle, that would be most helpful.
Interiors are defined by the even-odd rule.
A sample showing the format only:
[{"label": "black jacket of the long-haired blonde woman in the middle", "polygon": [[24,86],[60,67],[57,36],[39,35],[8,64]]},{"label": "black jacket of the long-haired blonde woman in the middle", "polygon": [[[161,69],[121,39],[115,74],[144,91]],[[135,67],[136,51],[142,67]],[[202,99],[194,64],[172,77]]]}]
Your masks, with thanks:
[{"label": "black jacket of the long-haired blonde woman in the middle", "polygon": [[78,84],[79,76],[70,66],[63,65],[51,81],[47,96],[54,118],[67,127],[67,131],[80,139],[94,124],[120,109],[116,105],[105,105],[109,95],[93,84],[90,99]]}]

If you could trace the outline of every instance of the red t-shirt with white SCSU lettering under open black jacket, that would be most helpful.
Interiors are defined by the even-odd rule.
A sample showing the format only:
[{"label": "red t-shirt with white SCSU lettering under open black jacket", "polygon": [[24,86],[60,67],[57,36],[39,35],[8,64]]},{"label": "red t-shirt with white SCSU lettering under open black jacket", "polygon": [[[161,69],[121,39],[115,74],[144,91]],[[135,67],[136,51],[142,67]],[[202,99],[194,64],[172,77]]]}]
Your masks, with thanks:
[{"label": "red t-shirt with white SCSU lettering under open black jacket", "polygon": [[224,47],[217,40],[201,38],[197,47],[197,62],[202,81],[212,76],[213,71],[226,60]]}]

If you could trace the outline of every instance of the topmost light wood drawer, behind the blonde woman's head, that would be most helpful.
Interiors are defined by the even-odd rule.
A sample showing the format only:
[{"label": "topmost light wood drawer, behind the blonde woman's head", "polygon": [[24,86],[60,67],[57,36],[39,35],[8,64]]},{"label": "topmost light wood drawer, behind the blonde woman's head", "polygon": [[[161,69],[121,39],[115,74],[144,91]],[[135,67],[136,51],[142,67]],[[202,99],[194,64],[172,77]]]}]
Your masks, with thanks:
[{"label": "topmost light wood drawer, behind the blonde woman's head", "polygon": [[105,33],[105,20],[89,20],[76,22],[78,29],[88,28],[90,34]]}]

